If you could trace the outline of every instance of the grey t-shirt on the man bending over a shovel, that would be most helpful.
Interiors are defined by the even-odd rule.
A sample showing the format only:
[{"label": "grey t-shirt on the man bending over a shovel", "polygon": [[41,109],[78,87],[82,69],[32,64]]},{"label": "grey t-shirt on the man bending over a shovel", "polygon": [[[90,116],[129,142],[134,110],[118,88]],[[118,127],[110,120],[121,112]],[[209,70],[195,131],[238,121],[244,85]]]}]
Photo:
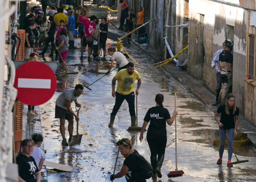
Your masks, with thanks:
[{"label": "grey t-shirt on the man bending over a shovel", "polygon": [[78,97],[79,96],[74,96],[74,88],[69,88],[62,92],[61,95],[59,95],[59,97],[56,100],[56,105],[64,109],[67,109],[67,106],[65,104],[66,99],[70,100],[70,102],[74,102],[74,100],[76,100]]}]

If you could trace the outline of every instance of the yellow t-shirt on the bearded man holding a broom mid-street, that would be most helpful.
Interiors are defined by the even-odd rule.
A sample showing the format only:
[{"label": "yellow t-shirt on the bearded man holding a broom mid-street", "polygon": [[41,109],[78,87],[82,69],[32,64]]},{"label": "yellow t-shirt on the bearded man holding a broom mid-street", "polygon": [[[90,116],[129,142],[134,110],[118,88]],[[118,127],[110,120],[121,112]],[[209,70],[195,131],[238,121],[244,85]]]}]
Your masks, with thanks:
[{"label": "yellow t-shirt on the bearded man holding a broom mid-street", "polygon": [[123,69],[118,71],[115,77],[119,79],[116,92],[123,95],[128,95],[131,92],[134,92],[134,82],[135,80],[140,80],[140,74],[136,70],[130,75],[127,73],[126,69]]}]

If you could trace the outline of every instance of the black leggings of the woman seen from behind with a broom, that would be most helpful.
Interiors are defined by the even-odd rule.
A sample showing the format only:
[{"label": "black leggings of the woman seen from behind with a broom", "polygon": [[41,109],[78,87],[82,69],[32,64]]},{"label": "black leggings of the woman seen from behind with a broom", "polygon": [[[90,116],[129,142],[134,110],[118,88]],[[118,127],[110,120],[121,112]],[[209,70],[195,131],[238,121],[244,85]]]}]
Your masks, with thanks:
[{"label": "black leggings of the woman seen from behind with a broom", "polygon": [[149,144],[150,148],[150,157],[156,157],[164,155],[165,153],[165,148],[166,148],[166,143],[167,143],[167,136],[157,138],[157,139],[152,139],[147,137],[147,143]]}]

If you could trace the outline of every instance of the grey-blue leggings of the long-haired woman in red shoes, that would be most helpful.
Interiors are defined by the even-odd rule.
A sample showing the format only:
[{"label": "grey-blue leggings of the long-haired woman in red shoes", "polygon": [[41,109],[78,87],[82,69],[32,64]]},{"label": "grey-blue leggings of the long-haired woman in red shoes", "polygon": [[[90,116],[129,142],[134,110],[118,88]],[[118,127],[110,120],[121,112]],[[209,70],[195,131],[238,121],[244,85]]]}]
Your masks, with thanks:
[{"label": "grey-blue leggings of the long-haired woman in red shoes", "polygon": [[[235,131],[234,128],[228,129],[228,139],[229,139],[230,143],[232,144],[232,147],[233,147],[233,140],[234,140],[234,131]],[[220,133],[219,155],[220,155],[220,158],[222,158],[223,152],[224,152],[224,147],[225,147],[225,139],[226,139],[227,129],[222,129],[219,127],[219,133]],[[231,160],[232,154],[233,154],[233,150],[232,150],[230,143],[228,142],[228,160]]]}]

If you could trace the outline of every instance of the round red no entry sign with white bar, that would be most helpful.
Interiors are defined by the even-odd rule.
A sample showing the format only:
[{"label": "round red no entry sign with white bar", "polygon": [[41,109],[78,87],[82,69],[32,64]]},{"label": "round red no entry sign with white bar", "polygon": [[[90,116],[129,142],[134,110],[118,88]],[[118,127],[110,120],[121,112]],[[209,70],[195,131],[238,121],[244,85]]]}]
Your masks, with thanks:
[{"label": "round red no entry sign with white bar", "polygon": [[47,102],[56,90],[57,80],[52,69],[45,63],[29,61],[17,68],[14,87],[17,98],[28,105]]}]

